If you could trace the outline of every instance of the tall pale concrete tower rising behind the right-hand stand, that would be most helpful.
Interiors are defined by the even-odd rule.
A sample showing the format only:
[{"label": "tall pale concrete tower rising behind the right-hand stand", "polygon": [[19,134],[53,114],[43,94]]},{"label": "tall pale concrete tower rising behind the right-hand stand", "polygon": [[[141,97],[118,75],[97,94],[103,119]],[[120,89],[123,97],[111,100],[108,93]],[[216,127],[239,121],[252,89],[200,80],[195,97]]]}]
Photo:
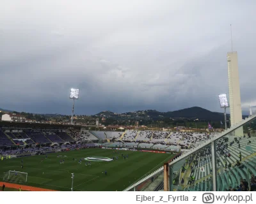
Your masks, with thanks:
[{"label": "tall pale concrete tower rising behind the right-hand stand", "polygon": [[[228,88],[229,88],[229,103],[230,103],[230,124],[234,126],[243,120],[241,108],[241,95],[239,84],[239,71],[237,52],[228,52]],[[243,136],[243,128],[235,131],[236,136]]]}]

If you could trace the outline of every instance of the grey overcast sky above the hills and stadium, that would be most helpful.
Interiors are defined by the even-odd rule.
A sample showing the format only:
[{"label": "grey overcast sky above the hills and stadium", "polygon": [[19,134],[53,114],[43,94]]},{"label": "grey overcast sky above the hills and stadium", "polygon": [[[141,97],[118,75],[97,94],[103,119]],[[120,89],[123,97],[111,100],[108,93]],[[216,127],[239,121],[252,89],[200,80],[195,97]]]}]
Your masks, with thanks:
[{"label": "grey overcast sky above the hills and stadium", "polygon": [[70,114],[222,112],[227,52],[256,105],[255,0],[1,0],[0,108]]}]

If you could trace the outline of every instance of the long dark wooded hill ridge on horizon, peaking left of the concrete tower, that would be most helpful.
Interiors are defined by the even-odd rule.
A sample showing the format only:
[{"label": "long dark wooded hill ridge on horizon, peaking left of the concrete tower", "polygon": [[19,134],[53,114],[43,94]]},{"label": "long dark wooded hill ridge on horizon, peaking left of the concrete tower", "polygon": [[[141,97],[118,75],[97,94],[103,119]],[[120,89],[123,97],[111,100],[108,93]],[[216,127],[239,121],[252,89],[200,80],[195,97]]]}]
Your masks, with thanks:
[{"label": "long dark wooded hill ridge on horizon, peaking left of the concrete tower", "polygon": [[[191,108],[184,108],[181,110],[175,110],[173,112],[159,112],[157,110],[137,110],[134,112],[127,113],[113,113],[110,111],[100,112],[95,117],[107,117],[107,118],[131,118],[131,119],[153,119],[160,120],[163,118],[171,118],[171,119],[199,119],[199,120],[209,120],[209,121],[220,121],[224,120],[224,114],[219,112],[211,112],[205,108],[200,108],[198,106],[194,106]],[[229,114],[227,114],[227,120],[229,118]],[[247,117],[243,115],[243,119]]]}]

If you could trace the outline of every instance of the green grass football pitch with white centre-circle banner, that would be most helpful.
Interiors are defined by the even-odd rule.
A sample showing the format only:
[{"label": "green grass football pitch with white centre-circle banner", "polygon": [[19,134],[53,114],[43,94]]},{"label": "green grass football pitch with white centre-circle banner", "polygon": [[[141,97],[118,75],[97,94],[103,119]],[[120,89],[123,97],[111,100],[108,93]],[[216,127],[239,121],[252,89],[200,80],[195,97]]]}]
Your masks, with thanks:
[{"label": "green grass football pitch with white centre-circle banner", "polygon": [[[124,159],[122,154],[128,158]],[[102,161],[114,156],[118,156],[118,161]],[[172,157],[173,154],[129,150],[116,153],[111,149],[73,150],[47,154],[47,159],[45,155],[4,159],[0,161],[0,175],[3,180],[4,172],[22,171],[28,173],[28,182],[22,185],[70,191],[71,173],[74,173],[74,191],[122,191]],[[73,161],[73,158],[76,159]],[[90,158],[91,165],[86,166],[84,158]],[[61,159],[65,160],[63,164],[60,164]],[[80,159],[83,159],[81,164],[78,163]]]}]

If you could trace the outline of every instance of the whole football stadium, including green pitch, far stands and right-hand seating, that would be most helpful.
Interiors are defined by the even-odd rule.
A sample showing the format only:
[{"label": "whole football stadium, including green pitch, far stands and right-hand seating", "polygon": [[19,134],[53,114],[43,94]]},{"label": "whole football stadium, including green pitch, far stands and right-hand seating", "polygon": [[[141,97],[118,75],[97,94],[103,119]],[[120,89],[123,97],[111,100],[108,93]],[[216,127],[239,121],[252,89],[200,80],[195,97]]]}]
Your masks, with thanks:
[{"label": "whole football stadium, including green pitch, far stands and right-hand seating", "polygon": [[[28,191],[225,191],[247,183],[241,187],[252,190],[255,118],[218,134],[2,121],[1,184]],[[237,136],[239,128],[244,134]]]}]

